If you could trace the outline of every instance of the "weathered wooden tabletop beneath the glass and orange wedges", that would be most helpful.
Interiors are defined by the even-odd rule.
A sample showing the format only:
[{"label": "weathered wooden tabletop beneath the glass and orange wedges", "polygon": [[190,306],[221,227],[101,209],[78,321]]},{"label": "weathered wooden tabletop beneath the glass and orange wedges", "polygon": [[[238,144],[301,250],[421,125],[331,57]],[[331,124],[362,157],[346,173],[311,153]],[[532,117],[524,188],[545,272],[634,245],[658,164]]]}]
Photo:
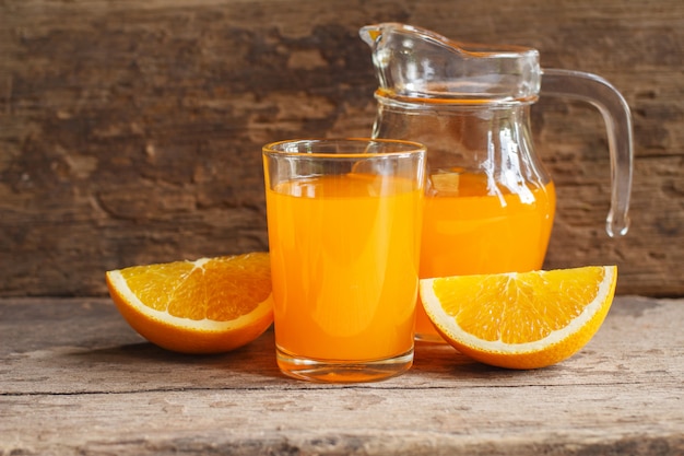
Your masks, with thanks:
[{"label": "weathered wooden tabletop beneath the glass and orange wedges", "polygon": [[273,332],[232,353],[142,340],[107,299],[0,300],[0,455],[683,455],[684,300],[621,296],[536,371],[418,346],[405,375],[282,376]]}]

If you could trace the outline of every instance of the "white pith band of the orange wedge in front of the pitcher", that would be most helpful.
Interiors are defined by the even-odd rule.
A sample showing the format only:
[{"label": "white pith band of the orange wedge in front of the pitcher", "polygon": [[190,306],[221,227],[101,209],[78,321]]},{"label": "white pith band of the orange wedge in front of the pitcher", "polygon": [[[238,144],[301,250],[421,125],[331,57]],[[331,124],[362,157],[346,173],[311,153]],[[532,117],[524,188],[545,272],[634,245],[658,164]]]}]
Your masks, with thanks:
[{"label": "white pith band of the orange wedge in front of the pitcher", "polygon": [[425,311],[428,315],[434,316],[434,320],[443,323],[439,328],[451,336],[457,341],[468,346],[477,347],[481,350],[493,353],[528,353],[539,351],[541,349],[551,347],[562,340],[568,338],[573,334],[580,330],[587,321],[589,321],[602,307],[603,301],[611,292],[611,284],[613,283],[616,268],[603,267],[604,276],[603,280],[599,284],[599,291],[594,300],[585,307],[582,313],[574,318],[568,326],[563,329],[551,332],[543,339],[535,340],[533,342],[526,343],[505,343],[500,340],[483,340],[469,332],[463,331],[457,324],[456,319],[447,314],[439,303],[439,299],[435,294],[433,283],[435,279],[421,280],[421,299]]}]

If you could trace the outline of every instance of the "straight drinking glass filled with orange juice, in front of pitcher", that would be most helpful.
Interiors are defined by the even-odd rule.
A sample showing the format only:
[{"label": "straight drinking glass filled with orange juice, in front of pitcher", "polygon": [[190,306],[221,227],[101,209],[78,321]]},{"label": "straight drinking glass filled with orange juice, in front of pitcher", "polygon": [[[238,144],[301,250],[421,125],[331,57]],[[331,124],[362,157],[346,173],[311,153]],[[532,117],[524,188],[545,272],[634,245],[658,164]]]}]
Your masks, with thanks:
[{"label": "straight drinking glass filled with orange juice, in front of pitcher", "polygon": [[281,141],[263,165],[281,371],[352,383],[410,369],[425,147]]}]

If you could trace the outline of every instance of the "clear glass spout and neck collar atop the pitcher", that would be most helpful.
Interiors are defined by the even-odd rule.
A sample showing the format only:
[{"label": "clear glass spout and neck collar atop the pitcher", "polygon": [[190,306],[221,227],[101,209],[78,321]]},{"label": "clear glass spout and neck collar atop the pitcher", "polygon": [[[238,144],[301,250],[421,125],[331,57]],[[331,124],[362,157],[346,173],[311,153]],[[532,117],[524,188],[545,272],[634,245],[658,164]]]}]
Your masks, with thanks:
[{"label": "clear glass spout and neck collar atop the pitcher", "polygon": [[541,84],[536,49],[453,42],[425,28],[381,23],[361,28],[379,90],[451,103],[532,103]]}]

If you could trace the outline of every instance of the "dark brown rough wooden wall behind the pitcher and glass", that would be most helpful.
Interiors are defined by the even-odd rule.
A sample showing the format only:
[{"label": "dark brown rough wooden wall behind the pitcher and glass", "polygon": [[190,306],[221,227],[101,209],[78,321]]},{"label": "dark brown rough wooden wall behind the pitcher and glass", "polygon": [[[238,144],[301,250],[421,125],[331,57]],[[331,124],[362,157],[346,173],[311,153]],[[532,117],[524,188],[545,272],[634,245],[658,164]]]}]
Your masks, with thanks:
[{"label": "dark brown rough wooden wall behind the pitcher and glass", "polygon": [[632,231],[603,231],[599,114],[542,100],[545,267],[617,264],[618,293],[684,295],[681,0],[0,0],[0,296],[103,295],[107,269],[266,250],[260,147],[370,133],[357,30],[384,21],[613,82],[635,122]]}]

